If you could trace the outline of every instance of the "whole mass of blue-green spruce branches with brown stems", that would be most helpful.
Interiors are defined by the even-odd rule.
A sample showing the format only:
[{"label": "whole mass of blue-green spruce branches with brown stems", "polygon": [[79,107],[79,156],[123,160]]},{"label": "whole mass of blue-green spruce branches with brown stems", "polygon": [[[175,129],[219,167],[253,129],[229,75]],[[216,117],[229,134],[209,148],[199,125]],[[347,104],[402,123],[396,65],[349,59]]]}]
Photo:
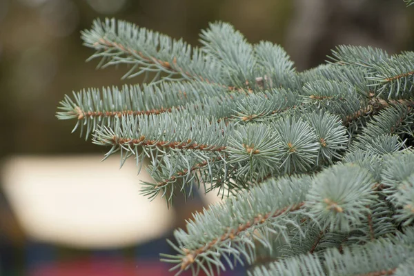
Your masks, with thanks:
[{"label": "whole mass of blue-green spruce branches with brown stems", "polygon": [[98,67],[155,77],[74,92],[57,117],[109,146],[104,159],[148,157],[150,199],[170,206],[200,185],[227,195],[168,241],[177,255],[163,261],[177,274],[260,260],[251,275],[412,272],[413,52],[338,46],[331,62],[296,72],[280,46],[221,22],[201,48],[115,19],[82,39]]}]

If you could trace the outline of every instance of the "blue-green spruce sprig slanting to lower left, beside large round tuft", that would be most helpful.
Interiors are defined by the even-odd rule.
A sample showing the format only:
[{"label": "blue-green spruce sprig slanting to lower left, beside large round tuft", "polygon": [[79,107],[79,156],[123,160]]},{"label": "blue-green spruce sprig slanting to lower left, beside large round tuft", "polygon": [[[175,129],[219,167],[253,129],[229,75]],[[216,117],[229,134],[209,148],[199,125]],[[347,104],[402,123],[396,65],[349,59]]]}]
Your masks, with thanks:
[{"label": "blue-green spruce sprig slanting to lower left, beside large round tuft", "polygon": [[196,214],[194,221],[188,221],[187,233],[175,231],[179,248],[174,247],[179,255],[166,257],[177,263],[175,269],[180,270],[208,263],[221,267],[219,257],[224,254],[233,255],[239,262],[242,255],[247,262],[253,261],[248,249],[254,246],[250,242],[253,231],[266,228],[284,235],[287,225],[296,226],[293,211],[303,206],[308,184],[307,177],[273,179],[222,205],[211,206],[204,214]]}]

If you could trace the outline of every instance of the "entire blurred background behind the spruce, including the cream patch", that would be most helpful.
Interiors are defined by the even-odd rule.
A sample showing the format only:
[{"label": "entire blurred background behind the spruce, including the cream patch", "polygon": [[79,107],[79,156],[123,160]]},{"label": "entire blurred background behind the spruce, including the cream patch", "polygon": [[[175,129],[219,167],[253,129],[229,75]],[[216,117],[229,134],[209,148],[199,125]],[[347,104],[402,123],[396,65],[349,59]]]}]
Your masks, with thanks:
[{"label": "entire blurred background behind the spruce, including the cream patch", "polygon": [[[132,163],[58,121],[63,95],[120,85],[125,68],[85,63],[80,30],[117,17],[198,45],[210,21],[279,43],[298,70],[338,44],[414,49],[414,8],[402,0],[0,0],[0,275],[170,275],[159,253],[184,219],[217,201],[200,193],[169,210],[139,195]],[[130,79],[128,83],[139,82]],[[242,268],[224,275],[244,275]]]}]

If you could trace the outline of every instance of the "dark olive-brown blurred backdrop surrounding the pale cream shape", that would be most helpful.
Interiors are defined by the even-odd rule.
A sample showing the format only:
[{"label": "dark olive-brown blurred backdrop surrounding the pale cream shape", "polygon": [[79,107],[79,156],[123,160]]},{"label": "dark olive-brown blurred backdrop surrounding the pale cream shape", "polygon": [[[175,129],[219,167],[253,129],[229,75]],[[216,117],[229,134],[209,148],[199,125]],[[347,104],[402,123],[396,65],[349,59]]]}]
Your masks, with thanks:
[{"label": "dark olive-brown blurred backdrop surrounding the pale cream shape", "polygon": [[[405,8],[402,0],[0,0],[0,166],[16,155],[106,152],[79,139],[79,132],[71,135],[73,121],[55,117],[59,101],[72,90],[140,81],[121,81],[125,68],[95,70],[97,61],[85,63],[92,50],[81,45],[79,32],[97,17],[132,21],[193,45],[208,22],[227,21],[252,43],[284,46],[298,70],[324,62],[338,44],[377,46],[390,53],[414,49],[414,8]],[[30,274],[36,265],[30,258],[45,248],[44,262],[89,254],[28,237],[9,200],[0,183],[0,275],[37,275]],[[178,203],[175,226],[183,226],[203,204],[199,198]],[[119,248],[117,256],[139,259],[140,246]]]}]

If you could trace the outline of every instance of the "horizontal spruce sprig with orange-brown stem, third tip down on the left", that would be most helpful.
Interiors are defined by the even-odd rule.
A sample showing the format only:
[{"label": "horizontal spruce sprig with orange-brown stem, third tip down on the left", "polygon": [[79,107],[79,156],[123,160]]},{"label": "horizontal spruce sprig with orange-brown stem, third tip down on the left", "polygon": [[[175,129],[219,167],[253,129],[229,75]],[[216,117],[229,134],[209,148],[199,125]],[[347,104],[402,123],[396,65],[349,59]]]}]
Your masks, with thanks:
[{"label": "horizontal spruce sprig with orange-brown stem, third tip down on the left", "polygon": [[113,129],[106,126],[97,128],[92,142],[112,146],[105,158],[120,150],[121,165],[131,155],[135,155],[138,164],[139,159],[144,155],[151,157],[152,152],[156,152],[154,160],[157,161],[158,154],[164,154],[164,150],[221,152],[226,149],[226,140],[232,129],[233,126],[223,121],[212,123],[206,117],[183,112],[128,116],[115,118]]}]

